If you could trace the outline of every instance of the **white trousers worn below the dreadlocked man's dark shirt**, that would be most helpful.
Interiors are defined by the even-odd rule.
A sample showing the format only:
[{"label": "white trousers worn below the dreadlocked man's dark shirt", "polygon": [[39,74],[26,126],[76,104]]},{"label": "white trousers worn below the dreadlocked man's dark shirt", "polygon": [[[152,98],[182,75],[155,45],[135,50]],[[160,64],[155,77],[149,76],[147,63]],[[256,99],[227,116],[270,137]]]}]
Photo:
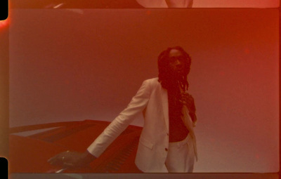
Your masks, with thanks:
[{"label": "white trousers worn below the dreadlocked man's dark shirt", "polygon": [[166,168],[169,173],[191,173],[195,163],[192,138],[188,136],[179,142],[169,142]]}]

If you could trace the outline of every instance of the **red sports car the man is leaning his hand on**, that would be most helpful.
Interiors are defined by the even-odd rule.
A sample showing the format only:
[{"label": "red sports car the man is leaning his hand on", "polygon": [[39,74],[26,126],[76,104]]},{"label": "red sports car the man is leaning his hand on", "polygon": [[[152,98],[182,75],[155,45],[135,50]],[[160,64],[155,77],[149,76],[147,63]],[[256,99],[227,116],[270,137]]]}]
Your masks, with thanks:
[{"label": "red sports car the man is leaning his hand on", "polygon": [[[59,166],[48,159],[66,150],[84,152],[108,121],[69,121],[20,126],[10,129],[10,173],[56,173]],[[134,164],[141,127],[129,126],[107,150],[85,168],[63,173],[139,173]]]}]

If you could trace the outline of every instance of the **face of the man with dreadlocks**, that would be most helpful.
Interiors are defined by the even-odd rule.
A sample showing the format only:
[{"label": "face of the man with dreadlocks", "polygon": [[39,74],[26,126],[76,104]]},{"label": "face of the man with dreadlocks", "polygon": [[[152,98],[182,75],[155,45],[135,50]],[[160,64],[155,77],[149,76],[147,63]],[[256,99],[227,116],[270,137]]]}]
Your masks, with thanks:
[{"label": "face of the man with dreadlocks", "polygon": [[183,75],[185,71],[185,58],[181,51],[171,49],[169,53],[169,67],[174,74]]}]

